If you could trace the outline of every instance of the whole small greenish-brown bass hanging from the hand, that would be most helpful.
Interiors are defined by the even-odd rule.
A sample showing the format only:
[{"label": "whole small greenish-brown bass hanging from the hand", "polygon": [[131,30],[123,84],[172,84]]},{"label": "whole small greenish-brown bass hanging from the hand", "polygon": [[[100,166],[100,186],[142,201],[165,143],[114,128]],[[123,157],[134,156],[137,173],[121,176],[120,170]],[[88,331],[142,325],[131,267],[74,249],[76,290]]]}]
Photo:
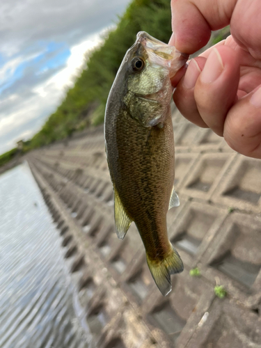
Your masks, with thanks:
[{"label": "whole small greenish-brown bass hanging from the hand", "polygon": [[134,221],[150,273],[164,296],[171,292],[171,274],[184,268],[168,239],[166,214],[180,205],[173,186],[171,78],[187,59],[140,31],[118,69],[104,118],[116,233],[123,239]]}]

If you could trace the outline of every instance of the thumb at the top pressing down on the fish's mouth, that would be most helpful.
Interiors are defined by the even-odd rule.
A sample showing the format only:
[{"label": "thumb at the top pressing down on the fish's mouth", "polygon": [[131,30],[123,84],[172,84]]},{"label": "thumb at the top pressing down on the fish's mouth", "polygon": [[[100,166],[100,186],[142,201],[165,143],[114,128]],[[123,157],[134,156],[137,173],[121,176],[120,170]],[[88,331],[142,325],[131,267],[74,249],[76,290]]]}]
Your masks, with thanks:
[{"label": "thumb at the top pressing down on the fish's mouth", "polygon": [[172,0],[170,44],[180,52],[194,53],[204,47],[212,30],[230,23],[237,0]]}]

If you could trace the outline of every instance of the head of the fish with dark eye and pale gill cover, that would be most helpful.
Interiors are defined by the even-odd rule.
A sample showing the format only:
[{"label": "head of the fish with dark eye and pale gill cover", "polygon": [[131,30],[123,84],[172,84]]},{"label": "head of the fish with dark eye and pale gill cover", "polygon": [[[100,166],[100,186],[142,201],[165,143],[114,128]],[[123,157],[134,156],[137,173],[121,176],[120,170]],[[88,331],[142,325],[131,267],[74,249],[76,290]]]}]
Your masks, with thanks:
[{"label": "head of the fish with dark eye and pale gill cover", "polygon": [[144,31],[137,34],[120,67],[125,76],[120,93],[130,116],[143,127],[164,121],[173,93],[171,78],[188,58]]}]

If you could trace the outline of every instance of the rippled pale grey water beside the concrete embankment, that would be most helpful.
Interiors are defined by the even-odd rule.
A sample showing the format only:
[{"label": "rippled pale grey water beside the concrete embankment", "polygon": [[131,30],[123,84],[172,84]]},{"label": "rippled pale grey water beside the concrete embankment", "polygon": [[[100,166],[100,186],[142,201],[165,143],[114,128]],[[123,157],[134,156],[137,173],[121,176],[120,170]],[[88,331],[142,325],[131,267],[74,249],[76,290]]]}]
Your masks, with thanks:
[{"label": "rippled pale grey water beside the concrete embankment", "polygon": [[76,306],[61,237],[22,164],[0,176],[0,348],[90,347]]}]

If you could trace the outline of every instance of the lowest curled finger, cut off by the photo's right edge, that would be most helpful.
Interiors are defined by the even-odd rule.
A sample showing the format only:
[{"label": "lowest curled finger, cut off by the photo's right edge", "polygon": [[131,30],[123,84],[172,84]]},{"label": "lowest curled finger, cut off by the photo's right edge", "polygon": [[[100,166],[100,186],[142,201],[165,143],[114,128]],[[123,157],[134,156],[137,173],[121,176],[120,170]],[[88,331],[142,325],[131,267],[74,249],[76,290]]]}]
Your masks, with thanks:
[{"label": "lowest curled finger, cut off by the photo's right edge", "polygon": [[224,138],[242,155],[261,159],[261,87],[239,100],[228,112]]}]

